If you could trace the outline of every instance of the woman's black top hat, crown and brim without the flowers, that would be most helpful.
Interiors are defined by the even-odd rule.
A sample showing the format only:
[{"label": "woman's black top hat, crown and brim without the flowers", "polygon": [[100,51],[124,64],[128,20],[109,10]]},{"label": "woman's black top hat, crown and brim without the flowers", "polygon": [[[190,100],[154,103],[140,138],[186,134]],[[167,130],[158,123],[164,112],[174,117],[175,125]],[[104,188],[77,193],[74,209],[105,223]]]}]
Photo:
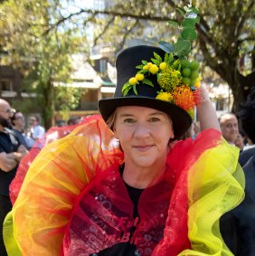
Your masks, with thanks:
[{"label": "woman's black top hat, crown and brim without the flowers", "polygon": [[141,64],[141,61],[150,62],[151,58],[155,58],[155,52],[164,58],[165,52],[163,50],[146,45],[130,47],[119,53],[116,62],[117,88],[114,97],[99,100],[99,111],[102,118],[107,121],[118,107],[141,106],[160,110],[172,119],[175,139],[177,139],[184,135],[184,132],[190,127],[192,119],[184,109],[174,103],[156,99],[158,92],[162,90],[157,82],[156,75],[150,76],[153,87],[147,84],[138,84],[137,93],[134,90],[128,90],[124,96],[125,93],[122,92],[127,81],[136,76],[137,65]]}]

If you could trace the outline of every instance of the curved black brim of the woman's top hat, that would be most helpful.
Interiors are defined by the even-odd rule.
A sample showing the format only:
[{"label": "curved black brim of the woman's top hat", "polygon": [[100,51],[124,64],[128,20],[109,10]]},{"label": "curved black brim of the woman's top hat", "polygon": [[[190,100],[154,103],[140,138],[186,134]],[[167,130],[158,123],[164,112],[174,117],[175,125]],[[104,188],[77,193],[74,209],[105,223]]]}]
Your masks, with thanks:
[{"label": "curved black brim of the woman's top hat", "polygon": [[180,107],[165,100],[156,100],[147,97],[117,97],[99,100],[99,111],[102,118],[107,121],[110,115],[118,107],[139,106],[157,109],[167,114],[173,121],[175,139],[182,137],[190,128],[192,119],[190,115]]}]

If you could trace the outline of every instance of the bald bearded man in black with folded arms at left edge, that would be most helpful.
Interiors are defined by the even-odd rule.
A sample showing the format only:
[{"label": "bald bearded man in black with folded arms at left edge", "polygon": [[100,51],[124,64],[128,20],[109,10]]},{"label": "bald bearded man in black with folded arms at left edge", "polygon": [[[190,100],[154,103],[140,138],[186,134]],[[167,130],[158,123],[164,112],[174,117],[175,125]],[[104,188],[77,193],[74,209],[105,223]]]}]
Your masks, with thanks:
[{"label": "bald bearded man in black with folded arms at left edge", "polygon": [[10,104],[0,99],[0,255],[5,256],[5,244],[3,241],[3,223],[5,215],[12,210],[9,196],[9,185],[16,174],[17,166],[22,157],[27,153],[15,137],[11,127],[13,109]]}]

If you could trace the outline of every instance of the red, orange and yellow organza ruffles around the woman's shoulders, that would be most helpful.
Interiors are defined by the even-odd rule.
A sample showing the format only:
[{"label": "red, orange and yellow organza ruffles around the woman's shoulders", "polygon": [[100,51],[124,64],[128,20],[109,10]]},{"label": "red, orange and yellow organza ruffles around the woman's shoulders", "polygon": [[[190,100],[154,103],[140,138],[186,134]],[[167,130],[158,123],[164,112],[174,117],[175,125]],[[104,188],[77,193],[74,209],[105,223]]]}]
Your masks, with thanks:
[{"label": "red, orange and yellow organza ruffles around the woman's shoulders", "polygon": [[[164,221],[157,225],[165,228],[157,241],[137,242],[137,246],[147,255],[231,255],[222,242],[218,221],[243,196],[237,159],[238,152],[213,129],[203,131],[194,141],[176,143],[167,156],[165,185],[157,187],[162,196],[157,198],[151,187],[141,195],[143,225],[137,227],[137,238],[152,237],[160,218]],[[89,255],[119,242],[119,217],[132,218],[118,174],[122,162],[116,139],[99,117],[43,147],[5,222],[9,255],[72,255],[73,248]],[[109,189],[110,185],[114,187]],[[91,209],[103,220],[93,218]],[[100,239],[91,242],[95,231],[100,231]]]}]

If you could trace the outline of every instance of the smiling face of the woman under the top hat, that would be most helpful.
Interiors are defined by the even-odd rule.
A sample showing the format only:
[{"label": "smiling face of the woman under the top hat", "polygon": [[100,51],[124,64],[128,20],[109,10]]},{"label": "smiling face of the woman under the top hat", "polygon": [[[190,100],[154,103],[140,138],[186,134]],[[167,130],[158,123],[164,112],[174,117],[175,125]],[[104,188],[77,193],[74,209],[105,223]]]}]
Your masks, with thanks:
[{"label": "smiling face of the woman under the top hat", "polygon": [[156,109],[119,107],[114,132],[125,154],[125,164],[132,166],[162,166],[168,142],[174,137],[172,120]]}]

